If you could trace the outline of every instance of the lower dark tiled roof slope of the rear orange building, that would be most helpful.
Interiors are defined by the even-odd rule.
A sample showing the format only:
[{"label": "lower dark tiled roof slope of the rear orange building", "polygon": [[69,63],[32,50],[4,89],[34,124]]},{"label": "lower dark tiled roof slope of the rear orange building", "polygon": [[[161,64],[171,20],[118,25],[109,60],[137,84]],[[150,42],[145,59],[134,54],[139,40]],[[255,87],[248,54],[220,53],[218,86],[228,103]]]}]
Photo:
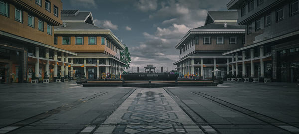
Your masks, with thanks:
[{"label": "lower dark tiled roof slope of the rear orange building", "polygon": [[63,25],[54,26],[54,29],[104,29],[84,22],[66,22],[66,27]]}]

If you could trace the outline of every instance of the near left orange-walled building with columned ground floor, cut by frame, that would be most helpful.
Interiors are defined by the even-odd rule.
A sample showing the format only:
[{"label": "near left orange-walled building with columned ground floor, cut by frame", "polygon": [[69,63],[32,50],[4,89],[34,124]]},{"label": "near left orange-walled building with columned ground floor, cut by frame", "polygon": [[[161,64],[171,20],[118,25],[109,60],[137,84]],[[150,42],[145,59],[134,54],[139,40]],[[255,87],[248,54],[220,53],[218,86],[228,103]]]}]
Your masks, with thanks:
[{"label": "near left orange-walled building with columned ground floor, cut by frame", "polygon": [[53,46],[54,26],[61,25],[61,0],[0,0],[0,81],[30,82],[57,76],[58,57],[77,55]]}]

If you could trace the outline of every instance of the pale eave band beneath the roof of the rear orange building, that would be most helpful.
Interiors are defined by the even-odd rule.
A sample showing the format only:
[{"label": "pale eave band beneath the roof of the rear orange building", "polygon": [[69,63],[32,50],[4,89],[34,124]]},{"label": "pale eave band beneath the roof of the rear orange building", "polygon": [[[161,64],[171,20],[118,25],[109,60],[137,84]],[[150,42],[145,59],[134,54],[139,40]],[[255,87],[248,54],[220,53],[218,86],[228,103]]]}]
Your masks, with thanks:
[{"label": "pale eave band beneath the roof of the rear orange building", "polygon": [[115,40],[120,49],[125,49],[125,46],[111,32],[110,29],[54,29],[54,34],[104,34]]}]

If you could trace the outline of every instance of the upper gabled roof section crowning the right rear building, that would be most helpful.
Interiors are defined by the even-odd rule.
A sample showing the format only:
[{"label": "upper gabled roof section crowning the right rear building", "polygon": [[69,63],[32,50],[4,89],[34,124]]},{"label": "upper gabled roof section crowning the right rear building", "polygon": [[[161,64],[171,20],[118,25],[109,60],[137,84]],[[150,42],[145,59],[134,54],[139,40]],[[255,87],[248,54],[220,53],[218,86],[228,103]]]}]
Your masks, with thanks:
[{"label": "upper gabled roof section crowning the right rear building", "polygon": [[209,11],[214,20],[237,20],[238,11]]}]

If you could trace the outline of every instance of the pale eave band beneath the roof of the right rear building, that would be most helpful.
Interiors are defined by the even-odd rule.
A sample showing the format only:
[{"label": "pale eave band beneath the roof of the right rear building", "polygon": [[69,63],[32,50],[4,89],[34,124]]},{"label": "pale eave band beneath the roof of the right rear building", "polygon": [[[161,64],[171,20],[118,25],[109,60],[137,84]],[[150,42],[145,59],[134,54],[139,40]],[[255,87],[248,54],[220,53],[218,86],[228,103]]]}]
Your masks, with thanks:
[{"label": "pale eave band beneath the roof of the right rear building", "polygon": [[245,29],[190,29],[178,42],[175,49],[180,49],[179,47],[191,34],[245,34]]}]

